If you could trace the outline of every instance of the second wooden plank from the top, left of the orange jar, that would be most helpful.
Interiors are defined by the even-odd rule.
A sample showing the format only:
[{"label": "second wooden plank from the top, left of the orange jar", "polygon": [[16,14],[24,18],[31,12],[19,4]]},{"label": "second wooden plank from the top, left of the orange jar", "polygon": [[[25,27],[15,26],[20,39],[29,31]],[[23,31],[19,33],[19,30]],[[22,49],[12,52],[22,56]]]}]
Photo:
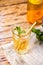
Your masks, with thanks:
[{"label": "second wooden plank from the top, left of the orange jar", "polygon": [[7,15],[18,16],[26,12],[27,12],[27,3],[7,7],[0,7],[0,16],[7,16]]}]

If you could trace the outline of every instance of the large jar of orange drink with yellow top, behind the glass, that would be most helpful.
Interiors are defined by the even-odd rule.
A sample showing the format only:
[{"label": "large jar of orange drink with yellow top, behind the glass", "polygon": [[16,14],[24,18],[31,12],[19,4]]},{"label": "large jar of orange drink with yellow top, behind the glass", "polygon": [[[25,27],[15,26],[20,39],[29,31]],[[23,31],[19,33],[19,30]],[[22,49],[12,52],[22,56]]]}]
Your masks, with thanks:
[{"label": "large jar of orange drink with yellow top, behind the glass", "polygon": [[35,21],[37,24],[42,23],[43,18],[43,0],[28,0],[27,5],[27,20],[33,24]]}]

